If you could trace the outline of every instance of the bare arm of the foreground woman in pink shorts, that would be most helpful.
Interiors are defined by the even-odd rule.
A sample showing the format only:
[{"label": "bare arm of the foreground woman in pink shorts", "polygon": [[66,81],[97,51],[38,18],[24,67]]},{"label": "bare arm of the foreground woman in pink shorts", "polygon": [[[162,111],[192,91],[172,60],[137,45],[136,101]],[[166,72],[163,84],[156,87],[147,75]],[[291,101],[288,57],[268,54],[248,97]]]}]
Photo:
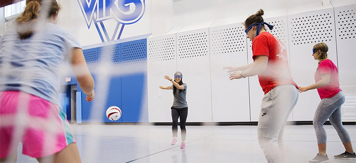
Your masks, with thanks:
[{"label": "bare arm of the foreground woman in pink shorts", "polygon": [[94,79],[88,70],[83,51],[80,48],[73,48],[69,63],[81,89],[83,89],[83,92],[87,95],[86,100],[94,100]]}]

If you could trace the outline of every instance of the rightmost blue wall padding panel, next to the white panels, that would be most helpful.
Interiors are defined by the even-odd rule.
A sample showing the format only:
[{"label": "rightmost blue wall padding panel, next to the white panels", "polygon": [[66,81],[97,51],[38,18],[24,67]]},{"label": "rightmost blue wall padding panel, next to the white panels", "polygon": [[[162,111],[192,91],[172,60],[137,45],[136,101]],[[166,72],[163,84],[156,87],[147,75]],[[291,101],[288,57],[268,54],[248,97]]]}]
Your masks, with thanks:
[{"label": "rightmost blue wall padding panel, next to the white panels", "polygon": [[136,40],[121,44],[122,72],[136,72],[122,75],[122,121],[123,122],[148,122],[142,120],[144,110],[148,109],[146,103],[147,81],[147,40]]}]

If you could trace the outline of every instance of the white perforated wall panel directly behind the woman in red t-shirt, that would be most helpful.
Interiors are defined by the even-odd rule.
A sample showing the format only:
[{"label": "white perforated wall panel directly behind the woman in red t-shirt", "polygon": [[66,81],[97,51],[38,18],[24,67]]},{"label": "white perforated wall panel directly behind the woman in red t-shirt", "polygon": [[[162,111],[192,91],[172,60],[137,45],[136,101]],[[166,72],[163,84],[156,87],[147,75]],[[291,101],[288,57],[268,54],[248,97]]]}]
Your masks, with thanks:
[{"label": "white perforated wall panel directly behind the woman in red t-shirt", "polygon": [[[275,37],[277,37],[283,44],[286,45],[287,53],[289,54],[289,43],[288,43],[288,22],[287,16],[277,16],[264,18],[264,21],[268,24],[274,26],[273,30],[267,30]],[[268,27],[266,26],[266,29]],[[252,42],[247,39],[247,49],[248,49],[248,63],[252,63]],[[289,55],[288,55],[289,56]],[[290,60],[290,57],[289,57]],[[261,102],[264,96],[261,86],[259,85],[259,79],[257,76],[249,77],[250,86],[250,107],[251,107],[251,121],[259,120],[259,111],[261,109]],[[291,115],[293,112],[291,113]],[[293,120],[292,116],[288,120]]]}]

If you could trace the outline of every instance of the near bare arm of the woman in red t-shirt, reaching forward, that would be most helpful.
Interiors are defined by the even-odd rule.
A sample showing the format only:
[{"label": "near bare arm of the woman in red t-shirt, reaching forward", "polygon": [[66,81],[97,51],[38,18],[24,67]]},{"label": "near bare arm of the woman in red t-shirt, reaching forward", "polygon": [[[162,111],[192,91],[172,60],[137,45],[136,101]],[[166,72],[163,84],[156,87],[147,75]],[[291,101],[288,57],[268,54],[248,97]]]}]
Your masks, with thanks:
[{"label": "near bare arm of the woman in red t-shirt, reaching forward", "polygon": [[267,64],[268,64],[267,56],[265,56],[265,55],[256,56],[255,61],[251,64],[248,64],[248,65],[250,65],[248,69],[241,72],[241,74],[240,74],[240,72],[231,74],[230,80],[240,79],[242,77],[255,76],[257,74],[260,74],[264,70],[266,70]]}]

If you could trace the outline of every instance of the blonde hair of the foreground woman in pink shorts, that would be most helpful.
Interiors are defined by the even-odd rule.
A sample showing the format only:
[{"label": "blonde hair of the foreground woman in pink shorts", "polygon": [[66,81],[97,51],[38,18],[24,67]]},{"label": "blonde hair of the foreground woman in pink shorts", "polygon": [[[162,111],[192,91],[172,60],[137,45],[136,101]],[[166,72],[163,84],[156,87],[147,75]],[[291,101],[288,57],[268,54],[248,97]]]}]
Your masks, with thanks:
[{"label": "blonde hair of the foreground woman in pink shorts", "polygon": [[19,26],[17,32],[21,40],[30,38],[33,34],[33,24],[40,16],[41,5],[44,1],[48,1],[48,13],[47,18],[58,12],[61,7],[58,5],[56,0],[26,0],[25,11],[22,12],[20,16],[16,18],[16,23]]}]

